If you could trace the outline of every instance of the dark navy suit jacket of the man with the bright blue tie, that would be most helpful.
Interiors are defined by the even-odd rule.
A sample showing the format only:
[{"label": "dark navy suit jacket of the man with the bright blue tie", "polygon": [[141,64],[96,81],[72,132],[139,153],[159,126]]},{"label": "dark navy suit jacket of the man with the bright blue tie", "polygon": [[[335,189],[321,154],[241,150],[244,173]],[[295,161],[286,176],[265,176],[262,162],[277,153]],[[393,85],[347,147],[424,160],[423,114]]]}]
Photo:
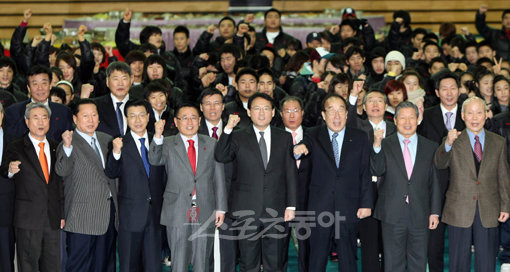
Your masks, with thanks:
[{"label": "dark navy suit jacket of the man with the bright blue tie", "polygon": [[[147,222],[150,207],[151,216],[156,222],[160,220],[166,185],[165,167],[151,165],[150,176],[147,177],[131,132],[128,130],[122,139],[121,157],[115,160],[113,152],[110,152],[105,173],[109,178],[119,178],[119,229],[141,232]],[[152,141],[152,135],[149,135],[148,141]]]}]

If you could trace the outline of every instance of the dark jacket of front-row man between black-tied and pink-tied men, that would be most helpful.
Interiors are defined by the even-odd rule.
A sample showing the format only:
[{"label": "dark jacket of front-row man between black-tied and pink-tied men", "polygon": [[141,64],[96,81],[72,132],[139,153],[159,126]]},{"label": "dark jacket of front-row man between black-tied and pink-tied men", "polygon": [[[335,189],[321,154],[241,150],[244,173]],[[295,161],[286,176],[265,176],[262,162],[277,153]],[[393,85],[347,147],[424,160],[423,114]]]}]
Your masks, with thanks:
[{"label": "dark jacket of front-row man between black-tied and pink-tied men", "polygon": [[316,215],[340,211],[345,222],[357,222],[359,208],[374,206],[366,134],[345,127],[339,168],[326,125],[310,129],[303,142],[310,152],[311,162],[308,210]]}]

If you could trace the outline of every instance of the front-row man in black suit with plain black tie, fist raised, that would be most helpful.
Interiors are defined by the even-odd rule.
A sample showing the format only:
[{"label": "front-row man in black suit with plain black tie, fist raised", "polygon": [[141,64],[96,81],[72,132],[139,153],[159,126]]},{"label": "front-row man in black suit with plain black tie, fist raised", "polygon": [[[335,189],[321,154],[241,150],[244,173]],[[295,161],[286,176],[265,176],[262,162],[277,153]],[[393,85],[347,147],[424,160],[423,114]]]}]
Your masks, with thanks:
[{"label": "front-row man in black suit with plain black tie, fist raised", "polygon": [[259,271],[261,264],[264,271],[282,270],[287,254],[283,224],[295,216],[297,169],[292,137],[269,125],[274,108],[267,94],[252,95],[247,113],[253,125],[232,132],[240,120],[231,114],[215,150],[216,160],[234,165],[229,206],[239,229],[241,271]]}]

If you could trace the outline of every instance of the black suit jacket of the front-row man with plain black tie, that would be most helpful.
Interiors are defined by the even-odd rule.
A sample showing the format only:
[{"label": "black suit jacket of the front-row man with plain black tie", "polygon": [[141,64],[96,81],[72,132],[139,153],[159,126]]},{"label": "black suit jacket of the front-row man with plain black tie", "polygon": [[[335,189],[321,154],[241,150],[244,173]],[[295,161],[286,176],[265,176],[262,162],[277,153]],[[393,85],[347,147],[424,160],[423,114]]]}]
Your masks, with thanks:
[{"label": "black suit jacket of the front-row man with plain black tie", "polygon": [[292,149],[290,133],[271,127],[271,152],[264,169],[253,126],[220,136],[214,154],[219,162],[233,162],[229,207],[234,217],[238,211],[253,211],[256,219],[274,217],[266,209],[283,217],[286,207],[296,207],[297,169]]}]

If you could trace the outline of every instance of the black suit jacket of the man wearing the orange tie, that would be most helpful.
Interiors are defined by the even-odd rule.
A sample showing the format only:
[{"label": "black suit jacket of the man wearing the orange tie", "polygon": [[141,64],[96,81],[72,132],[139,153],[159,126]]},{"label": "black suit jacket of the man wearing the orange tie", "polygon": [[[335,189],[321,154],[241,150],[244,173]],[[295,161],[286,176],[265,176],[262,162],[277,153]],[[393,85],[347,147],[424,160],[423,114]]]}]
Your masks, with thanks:
[{"label": "black suit jacket of the man wearing the orange tie", "polygon": [[49,183],[46,183],[39,157],[28,135],[13,141],[7,146],[7,151],[0,173],[7,177],[9,163],[21,161],[20,171],[11,178],[16,187],[14,204],[14,227],[28,230],[43,230],[46,219],[49,218],[50,227],[58,229],[60,219],[64,218],[64,193],[62,179],[55,173],[55,150],[58,143],[50,143],[51,168]]}]

